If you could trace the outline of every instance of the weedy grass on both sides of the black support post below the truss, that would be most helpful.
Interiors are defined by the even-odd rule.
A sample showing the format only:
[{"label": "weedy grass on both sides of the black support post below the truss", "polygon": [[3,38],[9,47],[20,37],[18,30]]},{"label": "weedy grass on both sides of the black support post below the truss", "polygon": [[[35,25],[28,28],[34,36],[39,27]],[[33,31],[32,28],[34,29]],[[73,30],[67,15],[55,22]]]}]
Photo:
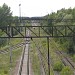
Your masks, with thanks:
[{"label": "weedy grass on both sides of the black support post below the truss", "polygon": [[[56,64],[57,62],[56,61],[59,61],[62,65],[62,61],[60,59],[60,57],[55,53],[55,45],[59,47],[58,44],[56,44],[53,39],[51,39],[52,41],[50,41],[50,45],[49,45],[49,48],[50,48],[50,58],[51,58],[51,67],[50,67],[50,75],[54,75],[54,69],[53,69],[53,66],[54,64]],[[40,38],[40,39],[33,39],[33,41],[37,44],[37,46],[40,46],[40,50],[43,54],[44,57],[47,56],[48,54],[48,51],[47,51],[47,39],[45,38]],[[40,75],[40,62],[39,62],[39,58],[38,58],[38,53],[37,53],[37,49],[36,49],[36,46],[34,44],[34,42],[31,42],[31,51],[30,51],[30,57],[33,59],[32,60],[32,67],[33,67],[33,71],[34,71],[34,75],[37,75],[37,72],[38,72],[38,75]],[[62,49],[62,48],[60,48]],[[45,63],[45,66],[46,66],[46,72],[48,75],[48,63],[45,59],[43,59],[44,63]],[[35,64],[36,63],[36,64]]]}]

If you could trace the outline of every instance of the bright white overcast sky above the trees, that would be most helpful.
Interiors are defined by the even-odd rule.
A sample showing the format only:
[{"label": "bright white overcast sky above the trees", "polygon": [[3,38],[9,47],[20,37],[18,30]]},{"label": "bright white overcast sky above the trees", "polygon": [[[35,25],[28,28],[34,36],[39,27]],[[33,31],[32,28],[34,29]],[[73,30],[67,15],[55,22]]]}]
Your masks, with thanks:
[{"label": "bright white overcast sky above the trees", "polygon": [[[45,16],[62,8],[74,8],[75,0],[0,0],[0,6],[6,3],[14,16]],[[21,6],[19,6],[21,4]]]}]

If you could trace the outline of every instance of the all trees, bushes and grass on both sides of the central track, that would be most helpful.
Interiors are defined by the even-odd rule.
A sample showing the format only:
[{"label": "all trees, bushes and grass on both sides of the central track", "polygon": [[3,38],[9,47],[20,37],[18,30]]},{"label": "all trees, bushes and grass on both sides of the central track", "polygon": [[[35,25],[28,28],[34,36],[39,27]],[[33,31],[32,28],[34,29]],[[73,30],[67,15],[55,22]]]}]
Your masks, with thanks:
[{"label": "all trees, bushes and grass on both sides of the central track", "polygon": [[[52,21],[40,21],[40,25],[44,26],[58,26],[58,25],[75,25],[75,21],[70,20],[69,22],[65,22],[66,19],[74,19],[75,20],[75,8],[65,9],[62,8],[57,12],[52,12],[44,16],[43,18],[46,19],[56,19],[55,22]],[[30,21],[29,21],[30,22]],[[25,25],[24,21],[23,24]],[[17,16],[12,16],[12,11],[8,5],[5,3],[0,6],[0,26],[19,26],[20,20]],[[30,24],[27,23],[27,26]],[[20,29],[18,29],[20,31]],[[33,29],[32,29],[33,30]],[[51,33],[51,29],[45,29],[48,33]],[[60,29],[64,33],[64,29]],[[33,30],[37,34],[37,29]],[[40,30],[42,31],[42,29]],[[75,31],[75,30],[74,30]],[[22,33],[23,30],[22,30]],[[19,36],[16,30],[13,32],[14,36]],[[33,33],[31,33],[33,35]],[[42,31],[42,35],[45,35]],[[72,34],[72,33],[70,33]],[[68,35],[70,35],[68,34]],[[56,34],[55,34],[56,35]],[[0,36],[5,36],[4,28],[0,29]],[[67,54],[71,59],[75,62],[75,35],[73,38],[53,38],[50,41],[49,39],[49,47],[50,47],[50,74],[54,75],[55,72],[59,73],[60,75],[73,75],[73,71],[69,66],[64,66],[59,56],[55,53],[54,46],[57,45],[58,48]],[[16,45],[18,43],[22,43],[23,39],[9,39],[7,38],[0,38],[0,50],[9,49],[9,51],[5,54],[0,54],[0,75],[10,75],[10,70],[12,69],[12,75],[14,74],[14,69],[16,63],[21,56],[22,47],[16,48],[12,50],[12,64],[10,63],[10,46]],[[44,67],[45,75],[48,75],[48,44],[47,39],[40,38],[40,39],[33,39],[30,41],[30,59],[32,62],[32,70],[34,75],[41,75]],[[53,43],[53,44],[52,44]],[[38,49],[41,53],[39,53]],[[40,54],[40,57],[39,57]],[[41,64],[41,58],[42,63]],[[43,65],[43,66],[42,66]]]}]

